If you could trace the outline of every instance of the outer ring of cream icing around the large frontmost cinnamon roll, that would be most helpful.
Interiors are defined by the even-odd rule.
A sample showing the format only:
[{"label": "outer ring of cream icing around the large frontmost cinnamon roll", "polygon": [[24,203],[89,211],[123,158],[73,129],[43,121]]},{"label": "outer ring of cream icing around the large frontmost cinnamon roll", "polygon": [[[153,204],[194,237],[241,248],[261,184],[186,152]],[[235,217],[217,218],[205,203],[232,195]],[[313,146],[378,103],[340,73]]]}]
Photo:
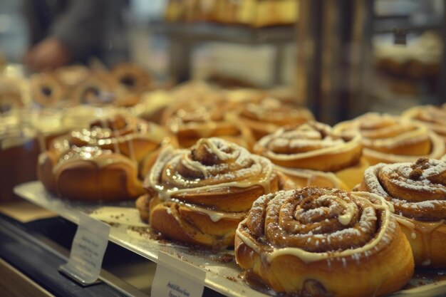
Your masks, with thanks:
[{"label": "outer ring of cream icing around the large frontmost cinnamon roll", "polygon": [[[327,195],[330,195],[331,190],[327,189],[326,193]],[[277,192],[273,195],[280,195],[280,194],[292,194],[294,191],[289,192]],[[239,228],[237,228],[237,236],[239,236],[240,239],[244,242],[244,244],[247,244],[251,249],[256,251],[258,254],[264,254],[266,261],[271,262],[274,258],[278,256],[284,256],[284,255],[292,255],[296,256],[304,263],[311,263],[314,261],[321,261],[321,260],[327,260],[330,261],[330,259],[339,259],[341,260],[344,257],[353,257],[359,259],[361,257],[361,254],[364,254],[365,257],[368,257],[371,251],[375,250],[378,251],[378,244],[385,243],[389,244],[391,241],[391,237],[388,234],[390,230],[394,230],[395,224],[390,224],[390,222],[394,222],[395,218],[391,216],[390,209],[388,207],[388,203],[385,202],[385,199],[383,197],[380,197],[376,194],[368,193],[368,192],[353,192],[352,196],[355,199],[361,199],[364,202],[370,202],[368,200],[368,197],[373,199],[374,201],[380,202],[380,204],[373,204],[375,209],[380,209],[384,213],[383,222],[380,224],[380,228],[378,231],[378,234],[375,234],[373,236],[373,239],[371,239],[367,244],[364,246],[355,248],[355,249],[346,249],[343,251],[336,251],[336,252],[321,252],[321,253],[313,253],[309,251],[305,251],[304,249],[300,249],[299,247],[284,247],[284,248],[277,248],[274,247],[271,250],[261,250],[261,247],[255,242],[255,239],[252,239],[251,236],[247,236],[244,234],[244,231],[242,231],[241,226],[244,226],[246,224],[246,220],[242,221],[239,224]],[[259,199],[264,199],[265,196],[260,197]],[[259,202],[259,200],[257,201]],[[356,256],[355,256],[356,255]],[[342,260],[341,260],[342,261]]]}]

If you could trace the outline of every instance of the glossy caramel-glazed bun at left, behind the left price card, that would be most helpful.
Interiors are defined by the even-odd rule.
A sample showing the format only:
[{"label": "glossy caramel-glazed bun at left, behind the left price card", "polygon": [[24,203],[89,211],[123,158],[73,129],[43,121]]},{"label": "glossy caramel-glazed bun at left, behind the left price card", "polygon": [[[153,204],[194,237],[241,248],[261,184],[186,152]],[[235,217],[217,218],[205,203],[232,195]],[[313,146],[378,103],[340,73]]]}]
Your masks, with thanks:
[{"label": "glossy caramel-glazed bun at left, behind the left price card", "polygon": [[140,174],[170,141],[162,127],[115,115],[53,140],[39,157],[38,177],[67,199],[136,198],[145,192]]}]

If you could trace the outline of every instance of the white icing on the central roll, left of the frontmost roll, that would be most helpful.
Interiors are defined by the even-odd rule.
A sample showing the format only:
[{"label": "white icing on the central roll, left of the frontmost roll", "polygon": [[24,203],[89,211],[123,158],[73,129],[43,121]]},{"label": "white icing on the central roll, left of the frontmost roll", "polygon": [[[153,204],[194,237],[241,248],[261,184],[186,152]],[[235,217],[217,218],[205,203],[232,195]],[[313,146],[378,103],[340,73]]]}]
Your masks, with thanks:
[{"label": "white icing on the central roll, left of the frontmost roll", "polygon": [[[226,172],[223,174],[212,175],[212,168],[225,168],[226,164],[219,164],[213,166],[203,165],[201,162],[190,159],[190,150],[175,150],[173,147],[165,147],[152,166],[152,170],[146,179],[146,186],[152,187],[157,191],[160,199],[165,201],[177,202],[182,194],[199,194],[222,191],[227,189],[230,192],[232,187],[235,188],[247,188],[254,185],[260,185],[264,189],[264,193],[271,192],[271,179],[274,174],[274,167],[269,160],[264,157],[251,155],[243,147],[239,147],[235,144],[226,142],[219,138],[209,138],[199,140],[197,146],[206,145],[213,155],[219,158],[219,160],[227,161],[233,160],[237,165],[244,165],[245,159],[252,160],[250,167],[244,168],[242,166],[239,169],[239,175],[237,172]],[[229,150],[229,153],[222,152],[220,149]],[[212,179],[213,184],[202,184],[203,180],[195,179],[183,179],[178,172],[171,172],[170,168],[175,169],[176,165],[181,162],[182,165],[190,170],[198,170],[205,177],[204,179]],[[172,177],[172,180],[178,181],[179,184],[172,184],[171,182],[162,182],[162,174],[167,177]],[[222,182],[218,182],[219,179]],[[188,204],[189,206],[189,204]],[[199,207],[199,212],[206,213],[211,219],[218,219],[223,216],[222,212],[215,209],[207,209]],[[225,216],[231,217],[232,214],[225,214]],[[239,216],[239,214],[237,214]]]}]

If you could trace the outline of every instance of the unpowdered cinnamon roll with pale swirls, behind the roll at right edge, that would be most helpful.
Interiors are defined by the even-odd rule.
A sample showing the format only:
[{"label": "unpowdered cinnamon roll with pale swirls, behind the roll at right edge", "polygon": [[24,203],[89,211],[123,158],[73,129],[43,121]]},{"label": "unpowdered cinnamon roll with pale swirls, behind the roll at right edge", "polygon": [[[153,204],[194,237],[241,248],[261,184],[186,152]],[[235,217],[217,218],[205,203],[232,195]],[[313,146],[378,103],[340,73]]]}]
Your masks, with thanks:
[{"label": "unpowdered cinnamon roll with pale swirls, behind the roll at right edge", "polygon": [[413,162],[419,157],[437,159],[445,154],[445,143],[427,127],[391,115],[367,113],[339,123],[334,130],[341,134],[359,131],[363,155],[372,165]]}]

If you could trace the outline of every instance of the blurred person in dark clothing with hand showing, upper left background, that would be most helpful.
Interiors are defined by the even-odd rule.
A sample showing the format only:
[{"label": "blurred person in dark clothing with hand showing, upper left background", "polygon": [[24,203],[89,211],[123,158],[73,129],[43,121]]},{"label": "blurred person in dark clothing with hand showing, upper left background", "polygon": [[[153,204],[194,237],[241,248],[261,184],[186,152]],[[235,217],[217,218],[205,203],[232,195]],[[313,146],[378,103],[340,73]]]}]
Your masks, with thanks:
[{"label": "blurred person in dark clothing with hand showing, upper left background", "polygon": [[24,62],[33,71],[128,60],[123,9],[126,0],[25,0],[31,47]]}]

